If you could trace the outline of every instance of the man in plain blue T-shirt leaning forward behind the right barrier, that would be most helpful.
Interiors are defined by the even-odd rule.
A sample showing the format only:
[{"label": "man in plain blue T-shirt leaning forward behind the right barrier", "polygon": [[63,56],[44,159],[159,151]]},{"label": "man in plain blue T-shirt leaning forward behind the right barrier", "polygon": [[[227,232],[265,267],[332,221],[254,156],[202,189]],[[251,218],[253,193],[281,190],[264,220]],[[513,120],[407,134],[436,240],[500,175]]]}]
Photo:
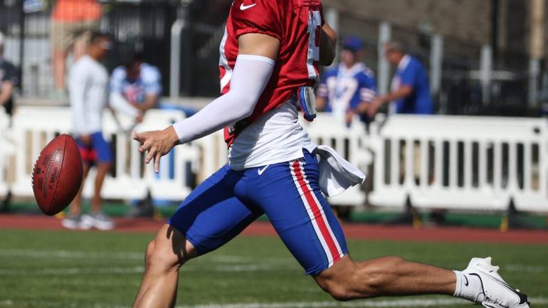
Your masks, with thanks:
[{"label": "man in plain blue T-shirt leaning forward behind the right barrier", "polygon": [[396,104],[396,113],[433,114],[428,76],[421,62],[405,53],[403,44],[395,41],[385,44],[385,55],[388,62],[396,67],[396,74],[392,78],[391,91],[378,96],[366,109],[369,117],[373,117],[382,105],[390,101]]}]

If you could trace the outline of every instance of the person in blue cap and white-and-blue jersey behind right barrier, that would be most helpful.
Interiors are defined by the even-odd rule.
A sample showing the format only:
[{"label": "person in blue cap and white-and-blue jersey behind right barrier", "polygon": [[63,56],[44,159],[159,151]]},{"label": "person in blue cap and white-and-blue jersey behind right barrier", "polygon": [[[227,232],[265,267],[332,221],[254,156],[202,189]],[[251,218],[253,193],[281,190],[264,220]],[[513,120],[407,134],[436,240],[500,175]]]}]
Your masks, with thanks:
[{"label": "person in blue cap and white-and-blue jersey behind right barrier", "polygon": [[320,111],[332,112],[335,117],[350,123],[356,113],[369,123],[366,112],[357,112],[361,104],[371,103],[377,96],[375,74],[358,58],[363,51],[362,40],[346,37],[341,52],[341,64],[325,72],[316,94],[316,107]]}]

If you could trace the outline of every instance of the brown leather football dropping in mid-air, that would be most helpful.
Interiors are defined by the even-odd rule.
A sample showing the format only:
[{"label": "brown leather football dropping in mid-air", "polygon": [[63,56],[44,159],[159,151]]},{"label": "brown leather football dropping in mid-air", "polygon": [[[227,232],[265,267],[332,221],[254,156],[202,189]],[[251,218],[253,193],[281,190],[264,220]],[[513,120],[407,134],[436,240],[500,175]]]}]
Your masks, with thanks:
[{"label": "brown leather football dropping in mid-air", "polygon": [[63,211],[82,184],[82,158],[76,141],[60,135],[40,152],[34,163],[32,185],[42,212],[55,215]]}]

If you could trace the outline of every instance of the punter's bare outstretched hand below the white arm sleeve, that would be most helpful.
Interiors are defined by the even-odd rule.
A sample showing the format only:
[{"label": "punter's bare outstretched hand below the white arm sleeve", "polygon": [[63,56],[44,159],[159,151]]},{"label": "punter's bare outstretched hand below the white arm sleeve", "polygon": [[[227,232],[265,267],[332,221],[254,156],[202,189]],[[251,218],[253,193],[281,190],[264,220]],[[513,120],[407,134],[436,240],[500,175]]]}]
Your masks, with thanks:
[{"label": "punter's bare outstretched hand below the white arm sleeve", "polygon": [[172,126],[165,130],[152,130],[149,132],[134,132],[133,138],[140,143],[139,152],[147,152],[145,164],[154,160],[154,172],[160,171],[160,157],[169,153],[173,146],[179,144],[179,137]]}]

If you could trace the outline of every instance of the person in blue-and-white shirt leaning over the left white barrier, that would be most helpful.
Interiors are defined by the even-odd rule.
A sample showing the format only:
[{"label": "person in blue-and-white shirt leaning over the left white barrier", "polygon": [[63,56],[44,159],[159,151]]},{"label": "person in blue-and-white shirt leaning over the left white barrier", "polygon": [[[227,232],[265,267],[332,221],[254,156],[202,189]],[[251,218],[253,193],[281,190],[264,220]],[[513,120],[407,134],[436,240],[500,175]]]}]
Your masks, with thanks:
[{"label": "person in blue-and-white shirt leaning over the left white barrier", "polygon": [[159,69],[145,63],[140,53],[124,55],[122,63],[112,72],[110,101],[129,103],[140,112],[154,108],[162,92]]}]

